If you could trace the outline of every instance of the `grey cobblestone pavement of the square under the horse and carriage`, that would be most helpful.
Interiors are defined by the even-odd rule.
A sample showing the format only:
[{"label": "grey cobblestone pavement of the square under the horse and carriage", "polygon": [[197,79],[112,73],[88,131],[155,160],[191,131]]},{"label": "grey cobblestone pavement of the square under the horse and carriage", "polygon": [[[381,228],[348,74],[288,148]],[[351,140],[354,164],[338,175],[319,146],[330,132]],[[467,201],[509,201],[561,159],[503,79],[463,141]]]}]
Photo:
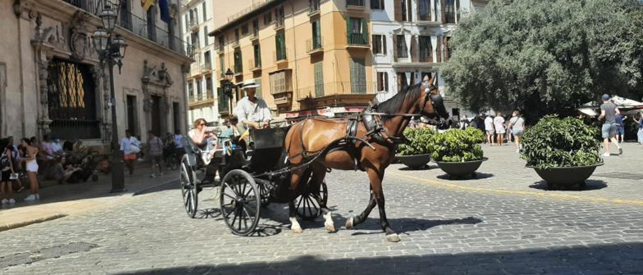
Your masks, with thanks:
[{"label": "grey cobblestone pavement of the square under the horse and carriage", "polygon": [[[0,273],[643,274],[641,181],[592,177],[602,188],[544,191],[529,187],[538,179],[509,146],[485,152],[481,179],[449,181],[438,169],[399,164],[387,170],[387,215],[402,238],[395,244],[381,233],[377,210],[355,230],[343,227],[367,205],[367,177],[333,171],[336,233],[318,219],[293,234],[285,204],[271,204],[257,235],[234,236],[216,211],[206,211],[215,206],[213,190],[201,193],[201,217],[190,219],[173,184],[109,209],[0,232],[0,257],[88,247],[59,258],[33,253],[38,261]],[[638,172],[614,157],[597,173],[620,169]]]}]

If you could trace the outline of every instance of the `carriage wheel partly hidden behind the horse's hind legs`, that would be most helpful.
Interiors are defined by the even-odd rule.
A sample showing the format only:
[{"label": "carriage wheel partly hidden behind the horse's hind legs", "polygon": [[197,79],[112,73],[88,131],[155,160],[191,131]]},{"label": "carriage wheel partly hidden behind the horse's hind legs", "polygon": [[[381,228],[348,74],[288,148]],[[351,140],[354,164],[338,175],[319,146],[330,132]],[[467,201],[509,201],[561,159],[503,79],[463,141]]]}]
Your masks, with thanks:
[{"label": "carriage wheel partly hidden behind the horse's hind legs", "polygon": [[297,215],[304,220],[314,220],[321,215],[320,203],[325,205],[328,202],[328,186],[326,181],[321,184],[306,185],[306,190],[294,199],[294,205],[297,208]]}]

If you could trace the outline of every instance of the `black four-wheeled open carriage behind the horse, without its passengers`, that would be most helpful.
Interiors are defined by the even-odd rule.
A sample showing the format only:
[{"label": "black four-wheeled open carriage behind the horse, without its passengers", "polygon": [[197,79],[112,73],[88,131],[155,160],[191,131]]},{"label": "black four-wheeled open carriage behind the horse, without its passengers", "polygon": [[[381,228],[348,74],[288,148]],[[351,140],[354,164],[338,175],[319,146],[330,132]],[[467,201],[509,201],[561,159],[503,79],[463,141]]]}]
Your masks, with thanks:
[{"label": "black four-wheeled open carriage behind the horse, without its passengers", "polygon": [[[207,152],[184,137],[186,154],[181,159],[180,184],[188,216],[197,215],[199,192],[203,188],[219,187],[219,209],[224,221],[232,233],[245,236],[255,231],[262,206],[289,202],[294,196],[284,150],[288,129],[252,129],[251,150],[226,141],[211,160],[219,162],[220,181],[203,179],[206,163],[201,156]],[[325,182],[307,184],[295,199],[297,215],[307,220],[319,217],[320,206],[325,205],[327,199]]]}]

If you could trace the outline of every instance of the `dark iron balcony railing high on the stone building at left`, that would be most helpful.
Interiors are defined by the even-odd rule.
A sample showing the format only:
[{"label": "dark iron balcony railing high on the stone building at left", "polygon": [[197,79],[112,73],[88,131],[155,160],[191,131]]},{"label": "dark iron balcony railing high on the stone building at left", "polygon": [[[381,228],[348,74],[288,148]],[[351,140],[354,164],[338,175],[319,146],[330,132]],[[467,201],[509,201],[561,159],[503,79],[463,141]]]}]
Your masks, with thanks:
[{"label": "dark iron balcony railing high on the stone building at left", "polygon": [[[116,7],[118,6],[118,2],[120,2],[116,0],[63,1],[72,4],[73,6],[77,6],[78,8],[82,8],[83,10],[86,10],[87,12],[96,16],[98,16],[98,13],[102,12],[102,7],[105,6],[105,4]],[[185,48],[183,48],[185,43],[179,37],[174,35],[174,33],[168,32],[168,30],[164,30],[162,28],[159,28],[158,26],[148,24],[147,20],[142,19],[141,17],[138,17],[127,10],[118,10],[118,19],[116,20],[116,24],[136,35],[139,35],[140,37],[152,40],[165,48],[172,49],[176,53],[186,55]]]}]

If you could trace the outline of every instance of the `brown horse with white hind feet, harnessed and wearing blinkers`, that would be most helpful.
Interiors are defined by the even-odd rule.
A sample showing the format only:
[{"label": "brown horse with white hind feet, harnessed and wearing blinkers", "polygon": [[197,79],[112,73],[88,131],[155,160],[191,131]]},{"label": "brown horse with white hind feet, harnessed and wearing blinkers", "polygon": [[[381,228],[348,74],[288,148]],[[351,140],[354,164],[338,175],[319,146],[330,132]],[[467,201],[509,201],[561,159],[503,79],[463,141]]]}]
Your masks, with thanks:
[{"label": "brown horse with white hind feet, harnessed and wearing blinkers", "polygon": [[[404,91],[395,94],[393,98],[375,105],[370,114],[369,112],[362,114],[360,122],[357,123],[354,137],[361,137],[361,140],[370,143],[370,146],[365,142],[352,139],[352,141],[345,143],[340,150],[331,150],[327,154],[319,155],[312,162],[311,168],[293,170],[291,174],[292,190],[294,193],[300,193],[300,182],[303,184],[309,182],[307,177],[311,177],[309,184],[320,184],[326,175],[327,168],[340,170],[359,168],[368,174],[370,201],[361,215],[347,220],[346,228],[352,229],[353,226],[364,222],[377,204],[386,240],[399,242],[399,236],[390,228],[386,219],[382,179],[386,167],[395,155],[394,141],[399,141],[403,137],[403,131],[412,119],[412,115],[425,116],[433,121],[436,121],[436,117],[448,118],[442,97],[435,85],[435,78],[429,79],[426,76],[421,84],[407,87]],[[289,163],[296,166],[309,161],[316,154],[320,154],[331,143],[347,136],[347,132],[350,132],[347,131],[349,124],[349,120],[321,118],[309,118],[295,123],[285,137],[285,150]],[[310,175],[311,171],[312,175]],[[323,202],[318,200],[318,203],[325,217],[325,229],[329,232],[335,231],[331,211],[323,205]],[[291,200],[289,210],[291,229],[294,233],[300,233],[302,227],[296,220],[294,200]]]}]

